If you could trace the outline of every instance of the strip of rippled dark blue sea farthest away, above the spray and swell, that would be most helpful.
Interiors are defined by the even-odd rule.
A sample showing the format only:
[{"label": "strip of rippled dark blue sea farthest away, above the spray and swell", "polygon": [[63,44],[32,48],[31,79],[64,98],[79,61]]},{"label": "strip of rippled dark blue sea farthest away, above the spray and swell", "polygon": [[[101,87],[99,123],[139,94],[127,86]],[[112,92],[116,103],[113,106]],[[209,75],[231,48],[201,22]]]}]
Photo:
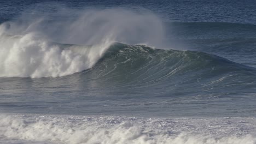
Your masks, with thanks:
[{"label": "strip of rippled dark blue sea farthest away, above the spray and swell", "polygon": [[[54,3],[53,3],[54,2]],[[57,2],[57,3],[55,3]],[[38,8],[42,1],[2,1],[1,18],[9,19],[28,8]],[[125,7],[149,9],[165,21],[183,22],[232,22],[256,23],[255,1],[44,1],[46,8],[67,6],[75,9],[85,7]],[[49,11],[48,11],[49,13]]]}]

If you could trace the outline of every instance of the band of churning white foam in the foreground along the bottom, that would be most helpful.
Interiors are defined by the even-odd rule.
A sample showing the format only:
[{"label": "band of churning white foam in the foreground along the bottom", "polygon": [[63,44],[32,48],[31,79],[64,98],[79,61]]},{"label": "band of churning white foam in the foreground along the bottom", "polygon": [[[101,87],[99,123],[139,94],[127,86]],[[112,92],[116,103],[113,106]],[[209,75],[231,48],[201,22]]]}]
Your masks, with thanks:
[{"label": "band of churning white foam in the foreground along the bottom", "polygon": [[0,115],[2,141],[253,144],[255,118]]}]

